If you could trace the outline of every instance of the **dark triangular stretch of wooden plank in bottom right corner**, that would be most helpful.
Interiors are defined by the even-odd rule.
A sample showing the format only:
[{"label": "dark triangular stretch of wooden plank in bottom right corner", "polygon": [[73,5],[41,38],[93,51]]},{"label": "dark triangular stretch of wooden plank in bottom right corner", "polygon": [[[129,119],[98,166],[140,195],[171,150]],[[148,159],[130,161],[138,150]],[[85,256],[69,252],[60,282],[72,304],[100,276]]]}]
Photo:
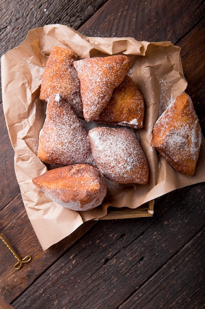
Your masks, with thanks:
[{"label": "dark triangular stretch of wooden plank in bottom right corner", "polygon": [[205,228],[137,288],[119,309],[204,308],[204,244]]}]

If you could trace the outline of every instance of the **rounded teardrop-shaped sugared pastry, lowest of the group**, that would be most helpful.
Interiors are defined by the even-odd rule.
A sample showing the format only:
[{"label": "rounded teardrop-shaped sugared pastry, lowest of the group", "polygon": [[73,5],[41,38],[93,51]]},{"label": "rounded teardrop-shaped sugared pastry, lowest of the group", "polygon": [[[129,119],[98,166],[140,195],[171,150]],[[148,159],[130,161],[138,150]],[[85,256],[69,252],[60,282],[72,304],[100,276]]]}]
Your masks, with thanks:
[{"label": "rounded teardrop-shaped sugared pastry, lowest of the group", "polygon": [[32,179],[34,185],[63,207],[76,211],[100,205],[107,193],[102,173],[88,164],[55,168]]}]

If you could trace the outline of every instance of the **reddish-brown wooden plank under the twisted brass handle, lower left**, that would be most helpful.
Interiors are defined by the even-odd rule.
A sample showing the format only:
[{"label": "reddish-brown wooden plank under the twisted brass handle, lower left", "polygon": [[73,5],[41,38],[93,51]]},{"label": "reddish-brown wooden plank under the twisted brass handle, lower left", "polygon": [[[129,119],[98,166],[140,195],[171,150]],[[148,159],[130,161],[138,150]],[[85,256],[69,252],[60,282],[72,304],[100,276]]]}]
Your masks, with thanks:
[{"label": "reddish-brown wooden plank under the twisted brass handle, lower left", "polygon": [[85,223],[59,244],[43,252],[18,194],[0,212],[0,233],[21,259],[30,255],[32,260],[21,270],[15,270],[17,260],[0,239],[1,297],[10,303],[95,224],[95,221]]}]

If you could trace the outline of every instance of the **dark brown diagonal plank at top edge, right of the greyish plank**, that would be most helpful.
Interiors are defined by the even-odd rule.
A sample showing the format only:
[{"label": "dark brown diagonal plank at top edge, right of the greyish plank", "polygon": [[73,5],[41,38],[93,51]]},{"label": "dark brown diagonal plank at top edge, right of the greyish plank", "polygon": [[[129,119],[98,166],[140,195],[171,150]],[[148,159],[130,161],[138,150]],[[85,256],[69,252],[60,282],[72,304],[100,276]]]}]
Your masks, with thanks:
[{"label": "dark brown diagonal plank at top edge, right of the greyish plank", "polygon": [[[205,3],[109,0],[80,31],[93,37],[129,37],[176,43],[205,16]],[[123,21],[123,22],[121,22]]]}]

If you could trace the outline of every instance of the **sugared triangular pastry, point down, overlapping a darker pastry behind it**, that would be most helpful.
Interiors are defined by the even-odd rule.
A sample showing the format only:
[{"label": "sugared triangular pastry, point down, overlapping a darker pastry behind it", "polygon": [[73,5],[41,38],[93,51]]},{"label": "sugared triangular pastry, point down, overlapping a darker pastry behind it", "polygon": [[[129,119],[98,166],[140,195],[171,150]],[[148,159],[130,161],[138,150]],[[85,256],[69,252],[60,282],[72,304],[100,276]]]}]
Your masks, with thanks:
[{"label": "sugared triangular pastry, point down, overlapping a darker pastry behind it", "polygon": [[93,57],[74,61],[80,79],[83,114],[94,120],[108,104],[113,89],[129,72],[131,60],[125,55]]}]

